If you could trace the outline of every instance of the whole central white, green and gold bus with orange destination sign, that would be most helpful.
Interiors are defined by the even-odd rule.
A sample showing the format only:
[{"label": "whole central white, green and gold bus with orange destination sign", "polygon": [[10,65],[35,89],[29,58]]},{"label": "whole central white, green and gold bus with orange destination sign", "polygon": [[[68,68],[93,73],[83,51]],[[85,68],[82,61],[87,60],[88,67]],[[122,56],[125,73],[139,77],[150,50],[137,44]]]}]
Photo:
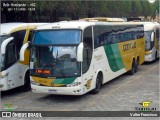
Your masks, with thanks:
[{"label": "whole central white, green and gold bus with orange destination sign", "polygon": [[35,29],[30,47],[34,93],[96,94],[101,86],[144,62],[143,25],[127,22],[66,21]]}]

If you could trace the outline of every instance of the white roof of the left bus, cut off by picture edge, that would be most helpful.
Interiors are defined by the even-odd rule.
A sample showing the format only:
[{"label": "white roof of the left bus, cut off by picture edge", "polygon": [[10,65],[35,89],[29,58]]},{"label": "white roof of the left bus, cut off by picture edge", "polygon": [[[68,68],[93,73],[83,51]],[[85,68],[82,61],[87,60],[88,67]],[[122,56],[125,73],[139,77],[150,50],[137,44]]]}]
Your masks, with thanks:
[{"label": "white roof of the left bus, cut off by picture edge", "polygon": [[0,35],[7,35],[19,30],[25,30],[28,27],[36,27],[38,25],[44,25],[47,23],[2,23]]}]

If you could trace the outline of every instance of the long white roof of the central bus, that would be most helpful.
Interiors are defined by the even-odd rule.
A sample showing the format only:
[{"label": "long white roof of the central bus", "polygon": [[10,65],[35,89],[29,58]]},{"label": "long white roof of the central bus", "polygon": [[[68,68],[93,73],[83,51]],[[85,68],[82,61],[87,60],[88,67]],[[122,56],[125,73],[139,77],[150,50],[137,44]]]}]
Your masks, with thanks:
[{"label": "long white roof of the central bus", "polygon": [[51,29],[84,29],[92,25],[137,25],[129,22],[99,22],[99,21],[61,21],[39,26],[36,30],[51,30]]}]

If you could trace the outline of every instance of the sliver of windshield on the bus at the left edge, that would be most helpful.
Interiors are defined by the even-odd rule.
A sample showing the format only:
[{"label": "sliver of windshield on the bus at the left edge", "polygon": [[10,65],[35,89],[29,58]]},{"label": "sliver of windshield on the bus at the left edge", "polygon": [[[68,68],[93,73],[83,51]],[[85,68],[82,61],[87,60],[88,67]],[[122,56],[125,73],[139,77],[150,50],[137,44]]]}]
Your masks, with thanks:
[{"label": "sliver of windshield on the bus at the left edge", "polygon": [[1,35],[0,36],[0,71],[2,71],[4,69],[4,55],[1,54],[1,45],[2,45],[3,41],[9,37],[10,37],[9,35]]}]

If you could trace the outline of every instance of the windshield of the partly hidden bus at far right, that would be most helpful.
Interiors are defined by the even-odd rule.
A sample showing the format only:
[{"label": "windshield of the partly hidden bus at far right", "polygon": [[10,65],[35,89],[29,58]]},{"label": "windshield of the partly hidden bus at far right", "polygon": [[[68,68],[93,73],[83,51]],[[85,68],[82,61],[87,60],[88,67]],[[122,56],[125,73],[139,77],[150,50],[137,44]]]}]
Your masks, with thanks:
[{"label": "windshield of the partly hidden bus at far right", "polygon": [[145,40],[146,40],[146,50],[151,50],[151,47],[152,47],[152,45],[151,45],[151,33],[152,33],[152,31],[145,31],[144,32],[144,35],[145,35]]}]

